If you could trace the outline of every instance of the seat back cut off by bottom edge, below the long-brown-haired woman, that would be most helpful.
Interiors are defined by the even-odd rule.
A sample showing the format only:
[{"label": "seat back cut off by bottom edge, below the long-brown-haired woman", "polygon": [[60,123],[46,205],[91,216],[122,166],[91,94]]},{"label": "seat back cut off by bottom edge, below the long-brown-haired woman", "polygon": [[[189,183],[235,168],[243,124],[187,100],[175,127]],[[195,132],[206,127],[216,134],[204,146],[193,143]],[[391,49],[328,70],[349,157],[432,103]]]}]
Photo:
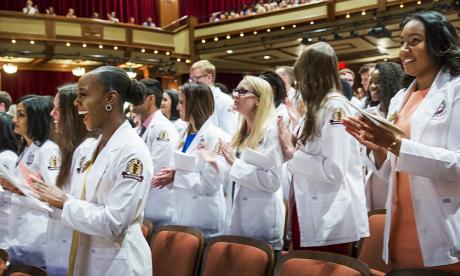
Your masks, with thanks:
[{"label": "seat back cut off by bottom edge, below the long-brown-haired woman", "polygon": [[357,259],[329,252],[296,250],[281,256],[275,276],[358,276],[370,275],[367,265]]}]

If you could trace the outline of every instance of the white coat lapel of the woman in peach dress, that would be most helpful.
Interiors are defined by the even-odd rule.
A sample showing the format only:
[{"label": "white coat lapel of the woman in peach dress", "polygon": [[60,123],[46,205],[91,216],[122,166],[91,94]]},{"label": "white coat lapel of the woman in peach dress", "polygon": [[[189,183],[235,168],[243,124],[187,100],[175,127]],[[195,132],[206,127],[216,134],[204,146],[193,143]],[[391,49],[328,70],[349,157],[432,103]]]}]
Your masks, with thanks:
[{"label": "white coat lapel of the woman in peach dress", "polygon": [[420,141],[425,127],[433,119],[435,112],[445,98],[445,92],[442,87],[447,81],[449,81],[449,74],[440,70],[425,99],[423,99],[412,116],[411,140]]}]

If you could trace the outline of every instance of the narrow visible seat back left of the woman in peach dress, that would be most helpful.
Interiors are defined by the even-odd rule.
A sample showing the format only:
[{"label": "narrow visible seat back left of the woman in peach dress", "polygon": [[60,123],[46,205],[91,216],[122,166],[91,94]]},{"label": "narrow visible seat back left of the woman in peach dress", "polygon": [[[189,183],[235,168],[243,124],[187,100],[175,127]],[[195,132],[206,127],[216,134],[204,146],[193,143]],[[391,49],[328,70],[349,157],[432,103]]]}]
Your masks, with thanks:
[{"label": "narrow visible seat back left of the woman in peach dress", "polygon": [[391,269],[382,259],[385,214],[384,209],[369,212],[370,236],[361,239],[358,245],[358,260],[369,266],[372,275],[385,275]]}]

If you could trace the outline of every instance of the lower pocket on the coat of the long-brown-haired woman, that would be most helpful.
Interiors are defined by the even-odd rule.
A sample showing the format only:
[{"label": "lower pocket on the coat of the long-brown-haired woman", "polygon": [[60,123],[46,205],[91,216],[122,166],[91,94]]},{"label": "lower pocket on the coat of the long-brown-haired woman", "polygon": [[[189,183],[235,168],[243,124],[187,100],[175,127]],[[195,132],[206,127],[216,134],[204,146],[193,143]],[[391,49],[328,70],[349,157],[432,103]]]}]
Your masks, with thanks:
[{"label": "lower pocket on the coat of the long-brown-haired woman", "polygon": [[315,239],[320,242],[357,236],[352,201],[343,192],[311,196]]}]

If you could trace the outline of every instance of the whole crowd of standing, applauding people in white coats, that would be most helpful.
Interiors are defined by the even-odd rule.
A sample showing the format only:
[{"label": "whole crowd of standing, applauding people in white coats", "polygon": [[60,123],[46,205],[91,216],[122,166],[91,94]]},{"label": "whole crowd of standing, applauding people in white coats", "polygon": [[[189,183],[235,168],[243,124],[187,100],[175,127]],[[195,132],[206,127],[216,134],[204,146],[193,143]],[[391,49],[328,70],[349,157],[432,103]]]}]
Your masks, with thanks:
[{"label": "whole crowd of standing, applauding people in white coats", "polygon": [[200,60],[178,91],[102,66],[19,99],[0,116],[0,247],[51,275],[151,275],[144,217],[348,255],[386,208],[386,263],[460,273],[460,44],[437,12],[401,26],[402,68],[363,66],[362,99],[325,42],[232,97]]}]

